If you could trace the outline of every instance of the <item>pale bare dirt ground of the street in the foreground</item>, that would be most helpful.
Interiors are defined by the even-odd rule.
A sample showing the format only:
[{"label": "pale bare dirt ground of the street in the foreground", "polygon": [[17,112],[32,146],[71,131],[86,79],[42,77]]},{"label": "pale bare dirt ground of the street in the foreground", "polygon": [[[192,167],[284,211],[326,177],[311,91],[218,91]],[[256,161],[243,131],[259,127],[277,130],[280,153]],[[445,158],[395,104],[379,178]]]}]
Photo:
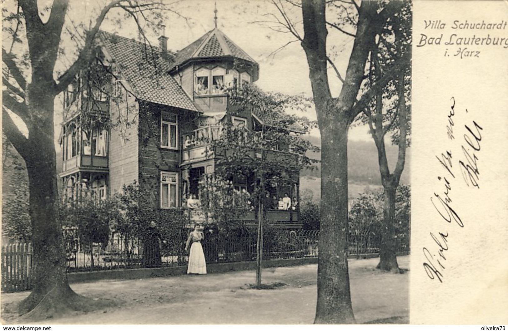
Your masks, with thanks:
[{"label": "pale bare dirt ground of the street in the foreground", "polygon": [[[358,323],[409,322],[409,275],[375,269],[379,259],[350,260],[353,311]],[[409,267],[409,256],[398,257]],[[49,319],[37,324],[311,324],[316,306],[317,265],[263,270],[263,283],[250,289],[255,271],[185,275],[71,284],[79,294],[107,298],[116,307]],[[2,318],[16,323],[15,303],[28,291],[2,294]]]}]

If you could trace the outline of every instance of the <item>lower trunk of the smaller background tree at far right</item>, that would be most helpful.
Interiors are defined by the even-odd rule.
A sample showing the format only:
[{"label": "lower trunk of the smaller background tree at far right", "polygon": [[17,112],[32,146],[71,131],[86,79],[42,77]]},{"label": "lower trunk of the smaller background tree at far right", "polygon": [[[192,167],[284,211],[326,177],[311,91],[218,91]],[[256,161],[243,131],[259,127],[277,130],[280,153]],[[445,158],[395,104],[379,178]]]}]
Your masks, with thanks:
[{"label": "lower trunk of the smaller background tree at far right", "polygon": [[383,206],[382,238],[379,247],[378,269],[399,273],[397,264],[397,235],[395,233],[395,191],[397,187],[386,185]]}]

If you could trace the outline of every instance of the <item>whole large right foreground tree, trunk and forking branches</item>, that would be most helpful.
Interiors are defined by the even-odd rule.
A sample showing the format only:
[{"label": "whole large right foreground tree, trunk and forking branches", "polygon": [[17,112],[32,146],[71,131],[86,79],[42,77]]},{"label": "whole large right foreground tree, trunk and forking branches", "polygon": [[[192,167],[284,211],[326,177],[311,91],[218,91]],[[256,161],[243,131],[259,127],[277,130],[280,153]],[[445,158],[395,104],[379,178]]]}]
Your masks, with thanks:
[{"label": "whole large right foreground tree, trunk and forking branches", "polygon": [[[275,24],[290,32],[301,42],[309,66],[309,78],[321,133],[321,233],[320,260],[317,275],[317,306],[315,323],[354,323],[347,269],[347,132],[356,116],[363,110],[376,91],[397,77],[407,66],[410,56],[405,55],[392,63],[383,77],[358,94],[364,80],[365,67],[374,49],[376,39],[383,32],[385,22],[402,7],[401,2],[302,0],[301,4],[273,0],[281,18]],[[285,10],[286,3],[301,9],[303,36]],[[327,6],[332,20],[327,20]],[[354,13],[354,14],[350,14]],[[344,22],[353,22],[356,31],[343,28]],[[329,56],[327,27],[353,38],[353,49],[344,78]],[[337,97],[332,97],[328,80],[328,64],[342,81]]]}]

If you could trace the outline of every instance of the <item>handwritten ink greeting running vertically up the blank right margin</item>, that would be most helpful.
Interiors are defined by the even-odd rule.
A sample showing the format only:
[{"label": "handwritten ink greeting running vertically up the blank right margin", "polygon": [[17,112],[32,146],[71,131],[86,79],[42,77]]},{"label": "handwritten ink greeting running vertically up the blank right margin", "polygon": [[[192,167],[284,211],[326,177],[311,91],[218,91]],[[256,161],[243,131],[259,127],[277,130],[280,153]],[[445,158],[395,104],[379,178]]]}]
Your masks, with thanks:
[{"label": "handwritten ink greeting running vertically up the blank right margin", "polygon": [[[454,224],[460,229],[464,228],[465,225],[459,207],[453,204],[452,191],[458,180],[465,182],[465,185],[471,189],[480,189],[478,161],[483,128],[475,120],[468,118],[465,119],[467,124],[456,128],[457,117],[469,117],[470,114],[467,109],[460,111],[455,109],[454,97],[451,98],[451,102],[446,118],[447,136],[451,141],[459,139],[460,148],[450,148],[435,156],[443,172],[437,176],[440,189],[430,197],[430,203],[436,211],[436,217],[446,223]],[[452,144],[452,146],[455,146],[455,144]],[[449,231],[442,230],[431,232],[430,237],[434,245],[423,248],[425,260],[423,268],[430,279],[439,280],[442,283],[444,270],[447,266],[446,253],[450,249],[450,234]]]}]

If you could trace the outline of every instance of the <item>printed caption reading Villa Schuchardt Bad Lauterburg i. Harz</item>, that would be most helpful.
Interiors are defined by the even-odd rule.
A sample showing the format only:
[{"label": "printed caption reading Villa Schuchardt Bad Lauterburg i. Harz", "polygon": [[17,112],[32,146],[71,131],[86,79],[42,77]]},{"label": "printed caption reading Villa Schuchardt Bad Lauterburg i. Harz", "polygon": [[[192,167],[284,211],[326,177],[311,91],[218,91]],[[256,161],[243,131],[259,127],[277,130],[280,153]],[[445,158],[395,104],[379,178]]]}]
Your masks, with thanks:
[{"label": "printed caption reading Villa Schuchardt Bad Lauterburg i. Harz", "polygon": [[483,50],[492,47],[508,49],[508,21],[500,20],[488,22],[482,20],[459,21],[451,23],[441,20],[424,20],[423,25],[427,33],[415,36],[418,41],[416,47],[439,47],[444,49],[443,56],[464,58],[479,58]]}]

